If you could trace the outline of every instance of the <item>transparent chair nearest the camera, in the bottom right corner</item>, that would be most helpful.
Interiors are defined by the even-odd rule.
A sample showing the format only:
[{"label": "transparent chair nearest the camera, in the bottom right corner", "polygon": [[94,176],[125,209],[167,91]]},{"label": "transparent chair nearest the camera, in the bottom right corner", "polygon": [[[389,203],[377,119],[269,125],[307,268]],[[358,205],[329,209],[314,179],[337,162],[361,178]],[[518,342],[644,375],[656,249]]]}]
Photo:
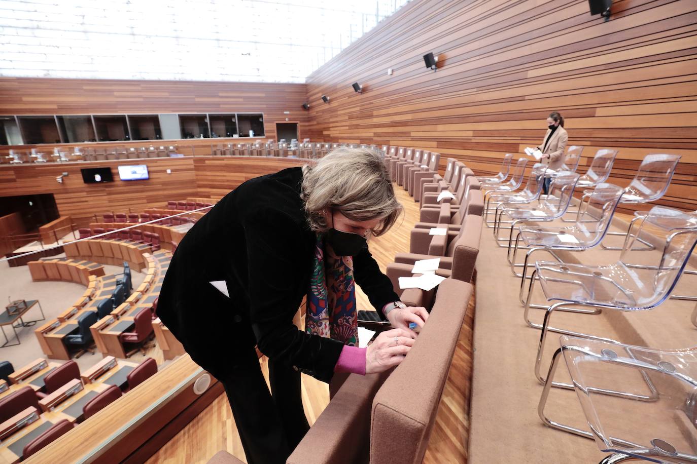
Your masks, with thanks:
[{"label": "transparent chair nearest the camera, in the bottom right corner", "polygon": [[[653,463],[697,463],[697,347],[658,350],[577,337],[560,337],[537,413],[546,426],[595,440],[606,453]],[[560,358],[566,362],[589,430],[561,424],[545,413]],[[654,401],[638,401],[645,379],[659,385]],[[633,397],[615,397],[621,385]],[[622,456],[623,455],[623,456]]]}]

